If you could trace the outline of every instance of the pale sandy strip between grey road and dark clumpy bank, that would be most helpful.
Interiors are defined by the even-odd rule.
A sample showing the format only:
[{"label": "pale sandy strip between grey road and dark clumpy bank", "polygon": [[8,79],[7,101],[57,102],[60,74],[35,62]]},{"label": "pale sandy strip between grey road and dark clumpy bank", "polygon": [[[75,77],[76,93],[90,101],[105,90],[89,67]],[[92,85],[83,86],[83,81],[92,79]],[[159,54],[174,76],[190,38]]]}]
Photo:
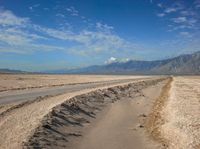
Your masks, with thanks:
[{"label": "pale sandy strip between grey road and dark clumpy bank", "polygon": [[[133,81],[137,82],[137,81]],[[119,83],[123,85],[127,83]],[[116,86],[116,85],[111,85]],[[30,103],[15,105],[11,110],[0,114],[0,148],[21,148],[28,136],[33,133],[41,120],[53,107],[73,96],[85,94],[97,89],[111,87],[109,85],[93,89],[62,94],[55,97],[38,98]]]}]

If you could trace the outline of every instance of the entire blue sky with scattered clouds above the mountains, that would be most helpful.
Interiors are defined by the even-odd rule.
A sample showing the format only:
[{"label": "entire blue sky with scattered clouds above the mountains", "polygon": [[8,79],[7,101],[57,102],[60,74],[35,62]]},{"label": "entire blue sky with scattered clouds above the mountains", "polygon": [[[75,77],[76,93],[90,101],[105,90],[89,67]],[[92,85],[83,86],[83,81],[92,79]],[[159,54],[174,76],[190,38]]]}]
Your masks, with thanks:
[{"label": "entire blue sky with scattered clouds above the mountains", "polygon": [[1,0],[0,68],[42,71],[200,50],[200,0]]}]

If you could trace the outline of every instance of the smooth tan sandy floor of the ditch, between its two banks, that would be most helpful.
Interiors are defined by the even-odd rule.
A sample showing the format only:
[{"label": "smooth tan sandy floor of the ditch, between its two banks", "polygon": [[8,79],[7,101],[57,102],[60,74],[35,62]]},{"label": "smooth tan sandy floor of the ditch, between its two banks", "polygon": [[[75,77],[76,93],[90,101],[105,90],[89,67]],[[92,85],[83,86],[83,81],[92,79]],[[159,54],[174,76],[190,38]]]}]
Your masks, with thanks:
[{"label": "smooth tan sandy floor of the ditch, between its two banks", "polygon": [[163,85],[148,87],[134,98],[125,97],[110,105],[105,116],[77,140],[77,149],[160,149],[161,145],[145,133],[143,121]]}]

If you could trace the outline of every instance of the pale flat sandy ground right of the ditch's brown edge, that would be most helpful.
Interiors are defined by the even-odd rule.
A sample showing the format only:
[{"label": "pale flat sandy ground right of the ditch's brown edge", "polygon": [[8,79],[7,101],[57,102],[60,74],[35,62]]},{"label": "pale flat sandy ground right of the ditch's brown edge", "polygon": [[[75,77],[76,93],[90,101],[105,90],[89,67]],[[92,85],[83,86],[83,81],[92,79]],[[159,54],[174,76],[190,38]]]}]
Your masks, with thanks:
[{"label": "pale flat sandy ground right of the ditch's brown edge", "polygon": [[170,149],[200,149],[200,77],[175,77],[161,135]]}]

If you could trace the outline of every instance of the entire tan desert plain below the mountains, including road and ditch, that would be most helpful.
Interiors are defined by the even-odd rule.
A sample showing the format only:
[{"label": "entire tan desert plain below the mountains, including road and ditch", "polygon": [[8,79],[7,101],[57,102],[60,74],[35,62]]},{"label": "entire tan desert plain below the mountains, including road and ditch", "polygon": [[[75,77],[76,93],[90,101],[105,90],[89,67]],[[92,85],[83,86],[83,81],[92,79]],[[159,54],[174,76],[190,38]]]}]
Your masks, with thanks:
[{"label": "entire tan desert plain below the mountains, including road and ditch", "polygon": [[199,149],[200,77],[0,75],[0,148]]}]

